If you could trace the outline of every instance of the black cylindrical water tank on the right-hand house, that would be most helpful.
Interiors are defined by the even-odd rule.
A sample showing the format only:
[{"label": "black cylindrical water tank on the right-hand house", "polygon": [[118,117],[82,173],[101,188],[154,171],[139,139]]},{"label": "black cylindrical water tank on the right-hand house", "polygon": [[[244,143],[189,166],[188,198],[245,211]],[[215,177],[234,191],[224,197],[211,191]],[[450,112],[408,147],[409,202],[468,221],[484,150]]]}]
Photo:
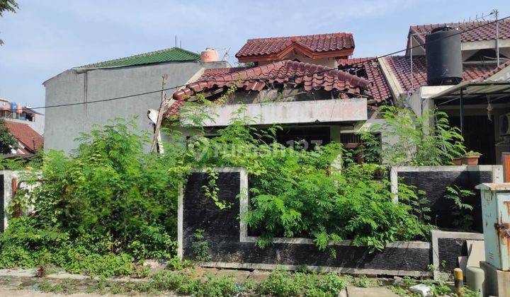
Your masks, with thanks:
[{"label": "black cylindrical water tank on the right-hand house", "polygon": [[456,85],[462,81],[463,65],[460,34],[451,27],[433,29],[425,37],[427,84]]}]

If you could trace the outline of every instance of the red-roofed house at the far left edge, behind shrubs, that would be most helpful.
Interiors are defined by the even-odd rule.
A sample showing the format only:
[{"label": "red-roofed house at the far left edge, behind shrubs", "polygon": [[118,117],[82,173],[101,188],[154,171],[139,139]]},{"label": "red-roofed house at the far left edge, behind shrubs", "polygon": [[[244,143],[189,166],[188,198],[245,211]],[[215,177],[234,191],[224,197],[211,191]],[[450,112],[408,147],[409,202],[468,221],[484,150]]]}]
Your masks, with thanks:
[{"label": "red-roofed house at the far left edge, behind shrubs", "polygon": [[21,122],[4,121],[8,132],[18,140],[18,147],[11,151],[10,156],[32,156],[42,148],[42,135],[32,129],[28,124]]}]

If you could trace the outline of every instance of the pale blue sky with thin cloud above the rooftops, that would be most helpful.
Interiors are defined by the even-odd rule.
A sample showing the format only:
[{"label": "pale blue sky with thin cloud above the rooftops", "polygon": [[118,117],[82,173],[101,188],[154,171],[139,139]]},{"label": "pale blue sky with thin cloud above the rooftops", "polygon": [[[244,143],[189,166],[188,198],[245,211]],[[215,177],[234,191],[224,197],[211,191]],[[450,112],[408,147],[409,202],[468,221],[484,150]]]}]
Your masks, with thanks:
[{"label": "pale blue sky with thin cloud above the rooftops", "polygon": [[[0,17],[0,98],[45,104],[42,83],[66,69],[178,45],[235,53],[249,38],[353,33],[353,57],[405,48],[409,25],[475,18],[510,1],[18,0]],[[220,50],[220,55],[225,53]],[[221,57],[220,56],[220,57]]]}]

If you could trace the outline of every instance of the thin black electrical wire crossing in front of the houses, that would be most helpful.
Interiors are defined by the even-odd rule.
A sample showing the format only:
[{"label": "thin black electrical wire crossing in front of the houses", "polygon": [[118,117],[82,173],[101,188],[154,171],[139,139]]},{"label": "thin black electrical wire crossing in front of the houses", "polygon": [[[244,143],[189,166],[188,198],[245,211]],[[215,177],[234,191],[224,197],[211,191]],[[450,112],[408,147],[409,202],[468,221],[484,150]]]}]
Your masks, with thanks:
[{"label": "thin black electrical wire crossing in front of the houses", "polygon": [[[449,37],[453,37],[455,35],[460,35],[462,33],[467,33],[469,31],[475,30],[477,28],[485,27],[487,25],[491,25],[493,23],[501,22],[501,21],[504,21],[504,20],[509,19],[509,18],[510,18],[510,16],[506,16],[504,18],[500,18],[497,21],[491,21],[491,22],[483,23],[481,25],[477,25],[475,27],[468,28],[466,30],[459,30],[457,33],[454,33],[452,35],[448,35],[448,36],[445,36],[445,37],[442,37],[442,38],[438,38],[437,40],[433,40],[432,42],[438,42],[440,40],[443,40],[443,39],[446,39],[446,38],[449,38]],[[383,54],[382,56],[366,59],[366,60],[363,61],[363,63],[375,61],[375,60],[383,58],[383,57],[388,57],[388,56],[392,56],[394,54],[399,54],[401,52],[406,52],[407,50],[412,50],[412,49],[414,49],[416,47],[424,47],[427,44],[428,43],[425,42],[423,45],[414,45],[412,47],[406,47],[403,50],[397,50],[395,52],[390,52],[388,54]],[[360,64],[360,63],[345,64],[345,65],[342,65],[342,66],[355,66],[357,64]],[[288,79],[291,80],[291,79],[300,78],[300,77],[304,77],[304,76],[312,76],[312,75],[315,75],[315,74],[322,74],[322,73],[325,73],[325,72],[328,72],[328,71],[334,71],[334,70],[339,70],[339,69],[336,68],[336,67],[335,68],[331,68],[331,69],[323,69],[323,70],[320,70],[320,71],[314,71],[314,72],[307,73],[307,74],[299,74],[299,75],[294,75],[294,76],[288,76]],[[239,81],[251,81],[251,80],[268,81],[268,80],[275,79],[275,78],[278,78],[278,76],[277,77],[273,77],[273,78],[271,78],[271,77],[266,77],[266,78],[244,78],[244,79],[239,79]],[[213,79],[213,80],[194,81],[193,83],[208,83],[210,81],[232,82],[232,80],[216,80],[216,79]],[[186,83],[186,84],[179,85],[179,86],[174,86],[174,87],[171,87],[171,88],[162,88],[162,89],[159,89],[159,90],[156,90],[156,91],[149,91],[149,92],[145,92],[145,93],[135,93],[135,94],[131,94],[131,95],[125,95],[125,96],[114,97],[114,98],[107,98],[107,99],[91,100],[91,101],[86,101],[86,102],[64,103],[64,104],[45,105],[45,106],[38,106],[38,107],[23,107],[23,108],[21,108],[21,110],[40,110],[40,109],[45,109],[45,108],[67,107],[67,106],[85,105],[85,104],[91,104],[91,103],[102,103],[102,102],[108,102],[108,101],[113,101],[113,100],[122,100],[122,99],[137,97],[137,96],[141,96],[141,95],[149,95],[149,94],[152,94],[152,93],[160,93],[162,91],[174,90],[174,89],[177,89],[177,88],[182,88],[182,87],[188,86],[189,84],[190,83]],[[348,92],[341,92],[341,93],[348,93]],[[356,95],[358,95],[358,94],[356,94]],[[19,109],[17,109],[17,110],[19,110]],[[9,111],[16,112],[16,110],[9,110]]]}]

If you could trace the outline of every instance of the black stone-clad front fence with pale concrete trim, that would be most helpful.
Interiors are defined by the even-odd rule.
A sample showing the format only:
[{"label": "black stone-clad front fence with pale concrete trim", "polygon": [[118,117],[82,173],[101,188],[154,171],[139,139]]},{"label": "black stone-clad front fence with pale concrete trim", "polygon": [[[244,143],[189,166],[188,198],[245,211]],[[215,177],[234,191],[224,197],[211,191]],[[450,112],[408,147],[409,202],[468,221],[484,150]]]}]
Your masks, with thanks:
[{"label": "black stone-clad front fence with pale concrete trim", "polygon": [[[469,177],[469,182],[476,185],[477,182],[497,180],[492,178],[494,174],[497,175],[497,168],[492,172],[487,170],[489,168],[477,166],[482,169],[479,170],[480,173],[474,173],[474,168],[467,170],[468,173],[463,173],[459,172],[463,171],[459,170],[463,166],[458,167],[457,170],[453,170],[455,174],[430,173],[436,176],[434,177],[436,187],[431,188],[443,187],[452,182],[452,179],[455,182],[459,179],[465,180],[465,175]],[[393,178],[397,173],[397,177],[403,177],[404,182],[417,187],[423,187],[429,182],[426,171],[420,171],[415,175],[410,171],[412,168],[402,169],[404,170],[393,171]],[[205,267],[273,269],[280,265],[292,270],[305,265],[308,269],[322,272],[436,276],[431,272],[430,264],[438,267],[438,264],[445,260],[447,267],[443,269],[453,269],[456,265],[455,259],[463,253],[465,240],[482,238],[480,233],[433,231],[431,243],[423,241],[390,243],[385,250],[372,253],[368,252],[366,247],[351,245],[350,240],[330,245],[326,251],[321,251],[309,238],[274,238],[272,245],[258,248],[257,238],[250,236],[244,223],[239,220],[242,211],[249,207],[246,194],[241,194],[248,192],[246,170],[243,168],[214,170],[218,173],[216,181],[220,189],[218,197],[231,204],[229,208],[219,209],[212,199],[205,197],[203,186],[208,184],[208,173],[205,170],[191,173],[179,197],[179,256],[181,259],[195,258],[194,234],[198,229],[202,229],[210,255],[210,261],[200,262]],[[441,213],[439,195],[441,193],[431,194],[432,198],[436,197],[431,199],[431,207],[433,211]],[[331,249],[334,252],[331,252]]]}]

